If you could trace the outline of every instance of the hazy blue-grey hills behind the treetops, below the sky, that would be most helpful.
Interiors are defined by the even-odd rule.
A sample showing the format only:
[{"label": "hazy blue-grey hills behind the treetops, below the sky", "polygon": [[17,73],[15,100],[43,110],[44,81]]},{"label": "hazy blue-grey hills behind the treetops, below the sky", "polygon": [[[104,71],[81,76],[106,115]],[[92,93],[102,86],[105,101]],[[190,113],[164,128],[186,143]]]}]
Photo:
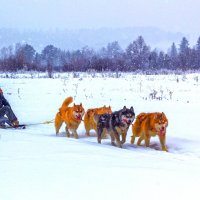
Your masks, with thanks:
[{"label": "hazy blue-grey hills behind the treetops, below the sky", "polygon": [[191,41],[191,36],[184,33],[166,32],[156,27],[127,27],[127,28],[100,28],[78,30],[53,30],[53,31],[18,31],[16,29],[0,28],[0,48],[8,47],[15,43],[27,43],[36,51],[42,51],[47,45],[54,45],[62,50],[76,50],[89,46],[95,50],[107,46],[108,43],[118,41],[123,49],[142,35],[145,42],[152,49],[167,51],[173,42],[179,44],[183,36]]}]

